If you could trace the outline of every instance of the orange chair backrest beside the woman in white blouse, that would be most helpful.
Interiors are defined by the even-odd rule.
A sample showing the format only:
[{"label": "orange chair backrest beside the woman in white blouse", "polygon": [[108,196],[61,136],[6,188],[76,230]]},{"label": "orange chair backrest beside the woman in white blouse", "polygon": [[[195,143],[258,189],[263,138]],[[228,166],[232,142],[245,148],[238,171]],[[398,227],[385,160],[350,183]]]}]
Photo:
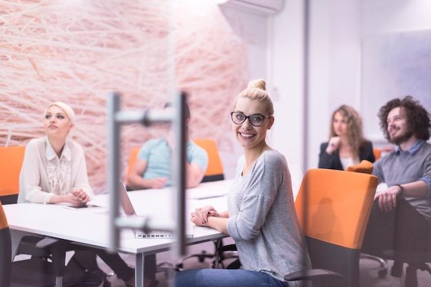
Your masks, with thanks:
[{"label": "orange chair backrest beside the woman in white blouse", "polygon": [[24,152],[25,146],[0,147],[0,201],[3,205],[17,203]]}]

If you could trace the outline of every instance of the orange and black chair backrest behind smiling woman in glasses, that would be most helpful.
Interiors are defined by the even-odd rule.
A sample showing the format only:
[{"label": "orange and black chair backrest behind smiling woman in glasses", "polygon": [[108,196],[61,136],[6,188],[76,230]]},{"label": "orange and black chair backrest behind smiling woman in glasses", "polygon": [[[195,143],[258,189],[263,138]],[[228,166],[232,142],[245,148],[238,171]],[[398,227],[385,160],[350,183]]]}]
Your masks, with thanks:
[{"label": "orange and black chair backrest behind smiling woman in glasses", "polygon": [[299,188],[295,207],[312,266],[344,275],[339,286],[359,287],[359,255],[376,187],[376,176],[320,168],[308,170]]}]

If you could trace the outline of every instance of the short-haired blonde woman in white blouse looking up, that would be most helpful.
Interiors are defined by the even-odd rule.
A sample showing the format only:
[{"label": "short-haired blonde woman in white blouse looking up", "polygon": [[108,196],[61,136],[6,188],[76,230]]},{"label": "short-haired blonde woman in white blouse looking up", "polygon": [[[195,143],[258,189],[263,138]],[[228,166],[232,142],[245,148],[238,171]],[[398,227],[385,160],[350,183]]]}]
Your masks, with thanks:
[{"label": "short-haired blonde woman in white blouse looking up", "polygon": [[[86,204],[94,192],[88,182],[84,150],[68,137],[74,128],[74,111],[63,102],[53,102],[43,115],[45,137],[32,139],[25,147],[18,203]],[[134,269],[117,253],[76,248],[74,260],[96,271],[97,253],[127,286],[134,286]]]}]

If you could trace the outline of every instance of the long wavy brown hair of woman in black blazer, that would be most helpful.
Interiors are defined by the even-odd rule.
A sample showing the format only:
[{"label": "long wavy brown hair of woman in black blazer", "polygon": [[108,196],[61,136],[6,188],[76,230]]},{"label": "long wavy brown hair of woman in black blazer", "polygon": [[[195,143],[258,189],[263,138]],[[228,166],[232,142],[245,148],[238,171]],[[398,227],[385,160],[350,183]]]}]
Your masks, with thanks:
[{"label": "long wavy brown hair of woman in black blazer", "polygon": [[337,137],[334,129],[334,117],[336,113],[341,113],[343,117],[346,117],[347,120],[347,135],[348,135],[348,143],[352,148],[353,159],[359,159],[359,148],[366,143],[368,140],[364,137],[362,119],[359,116],[359,113],[355,111],[351,106],[347,106],[343,104],[339,106],[334,113],[333,116],[330,117],[330,133],[329,138]]}]

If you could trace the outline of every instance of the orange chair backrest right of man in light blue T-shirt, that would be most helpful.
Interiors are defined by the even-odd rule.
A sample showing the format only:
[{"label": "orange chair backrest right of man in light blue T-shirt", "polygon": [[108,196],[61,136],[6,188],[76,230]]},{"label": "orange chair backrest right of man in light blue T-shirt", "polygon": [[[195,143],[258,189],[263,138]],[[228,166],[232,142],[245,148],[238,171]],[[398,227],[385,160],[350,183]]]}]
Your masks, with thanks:
[{"label": "orange chair backrest right of man in light blue T-shirt", "polygon": [[202,179],[202,183],[207,181],[222,181],[224,179],[223,165],[215,140],[193,139],[193,141],[206,150],[208,154],[208,168]]}]

